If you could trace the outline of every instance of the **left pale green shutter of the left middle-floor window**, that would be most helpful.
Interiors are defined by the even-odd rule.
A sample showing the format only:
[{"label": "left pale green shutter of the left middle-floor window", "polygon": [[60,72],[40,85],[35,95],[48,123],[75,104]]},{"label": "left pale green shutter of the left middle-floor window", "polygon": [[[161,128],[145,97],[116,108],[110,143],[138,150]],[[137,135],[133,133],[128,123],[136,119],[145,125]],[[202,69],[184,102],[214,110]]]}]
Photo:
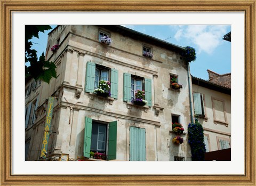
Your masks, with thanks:
[{"label": "left pale green shutter of the left middle-floor window", "polygon": [[95,63],[88,61],[86,64],[85,92],[94,91]]}]

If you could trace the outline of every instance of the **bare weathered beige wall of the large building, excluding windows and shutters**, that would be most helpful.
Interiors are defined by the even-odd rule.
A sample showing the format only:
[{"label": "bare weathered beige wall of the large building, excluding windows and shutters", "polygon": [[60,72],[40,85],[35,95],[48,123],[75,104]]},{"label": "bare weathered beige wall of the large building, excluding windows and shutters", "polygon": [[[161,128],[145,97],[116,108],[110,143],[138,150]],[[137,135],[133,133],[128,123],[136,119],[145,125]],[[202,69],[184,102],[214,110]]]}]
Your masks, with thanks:
[{"label": "bare weathered beige wall of the large building, excluding windows and shutters", "polygon": [[[99,42],[101,30],[110,34],[111,45]],[[42,83],[38,108],[41,114],[32,130],[43,133],[43,127],[39,126],[43,125],[45,118],[45,104],[49,96],[54,96],[54,119],[48,148],[54,160],[61,154],[69,155],[69,160],[83,156],[85,117],[107,123],[117,120],[116,160],[129,160],[131,126],[146,129],[146,160],[168,161],[174,160],[174,156],[191,159],[187,143],[187,126],[190,123],[187,64],[180,59],[178,52],[174,52],[180,48],[165,42],[159,44],[143,35],[133,35],[116,28],[111,30],[110,27],[98,26],[59,26],[49,34],[46,59],[56,64],[58,77],[52,78],[50,84]],[[57,43],[60,48],[52,53],[50,48]],[[142,56],[143,45],[151,47],[153,59]],[[100,98],[85,92],[88,61],[118,70],[118,99]],[[137,107],[123,101],[125,72],[151,79],[151,107]],[[178,75],[182,90],[170,89],[170,74]],[[184,143],[180,145],[172,142],[175,137],[171,132],[172,114],[179,116],[185,128]],[[41,149],[42,136],[32,132],[31,139],[35,141],[34,147]],[[32,154],[29,160],[37,156]]]}]

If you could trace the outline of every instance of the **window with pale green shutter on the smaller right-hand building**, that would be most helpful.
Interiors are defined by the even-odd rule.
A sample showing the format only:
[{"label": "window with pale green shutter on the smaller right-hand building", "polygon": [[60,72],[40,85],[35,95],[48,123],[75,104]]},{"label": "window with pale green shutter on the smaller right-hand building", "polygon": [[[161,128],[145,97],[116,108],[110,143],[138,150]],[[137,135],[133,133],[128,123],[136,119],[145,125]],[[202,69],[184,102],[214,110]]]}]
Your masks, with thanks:
[{"label": "window with pale green shutter on the smaller right-hand building", "polygon": [[195,115],[206,117],[204,108],[204,95],[201,93],[193,93],[194,98],[194,112]]}]

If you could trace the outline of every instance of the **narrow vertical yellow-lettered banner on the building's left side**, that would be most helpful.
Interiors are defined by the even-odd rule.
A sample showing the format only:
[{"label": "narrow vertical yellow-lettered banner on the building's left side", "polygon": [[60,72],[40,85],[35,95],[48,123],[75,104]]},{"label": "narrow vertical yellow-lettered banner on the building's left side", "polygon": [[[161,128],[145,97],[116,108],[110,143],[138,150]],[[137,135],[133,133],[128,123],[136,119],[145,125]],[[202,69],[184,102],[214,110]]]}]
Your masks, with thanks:
[{"label": "narrow vertical yellow-lettered banner on the building's left side", "polygon": [[50,96],[48,100],[47,111],[46,111],[46,120],[44,125],[44,136],[43,136],[43,144],[42,144],[41,153],[40,153],[40,159],[41,158],[46,159],[48,141],[50,136],[49,133],[50,133],[51,123],[52,123],[53,104],[54,104],[54,98]]}]

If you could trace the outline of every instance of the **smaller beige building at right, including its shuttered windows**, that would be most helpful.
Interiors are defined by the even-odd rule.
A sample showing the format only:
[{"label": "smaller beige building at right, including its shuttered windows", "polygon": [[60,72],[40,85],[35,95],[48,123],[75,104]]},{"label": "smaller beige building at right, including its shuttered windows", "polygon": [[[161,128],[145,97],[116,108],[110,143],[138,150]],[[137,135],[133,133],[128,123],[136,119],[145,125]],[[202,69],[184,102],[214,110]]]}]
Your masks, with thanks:
[{"label": "smaller beige building at right, including its shuttered windows", "polygon": [[206,152],[231,148],[231,88],[196,77],[192,83],[194,111],[204,129]]}]

